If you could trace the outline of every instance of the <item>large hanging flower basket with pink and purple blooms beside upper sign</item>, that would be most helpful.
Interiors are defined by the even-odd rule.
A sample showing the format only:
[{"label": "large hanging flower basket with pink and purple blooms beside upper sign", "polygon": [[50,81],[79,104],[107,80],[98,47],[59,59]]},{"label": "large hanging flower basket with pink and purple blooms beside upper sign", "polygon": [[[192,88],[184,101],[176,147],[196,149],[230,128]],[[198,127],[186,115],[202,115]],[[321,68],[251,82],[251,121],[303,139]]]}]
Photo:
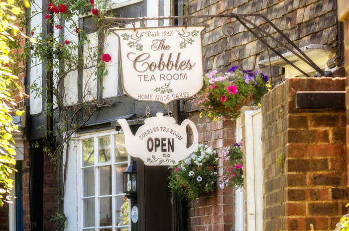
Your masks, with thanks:
[{"label": "large hanging flower basket with pink and purple blooms beside upper sign", "polygon": [[214,121],[224,116],[238,118],[242,106],[259,104],[260,98],[271,87],[268,76],[251,70],[239,70],[237,66],[225,74],[213,71],[204,80],[204,89],[193,102],[199,107],[200,116],[207,116]]}]

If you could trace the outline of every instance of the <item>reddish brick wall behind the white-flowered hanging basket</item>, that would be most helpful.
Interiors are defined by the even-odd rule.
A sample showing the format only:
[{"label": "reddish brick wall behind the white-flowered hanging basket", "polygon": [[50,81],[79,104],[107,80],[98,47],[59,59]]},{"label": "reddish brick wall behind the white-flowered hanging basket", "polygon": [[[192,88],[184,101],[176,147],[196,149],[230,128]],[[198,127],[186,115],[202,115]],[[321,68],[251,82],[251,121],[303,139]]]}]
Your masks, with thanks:
[{"label": "reddish brick wall behind the white-flowered hanging basket", "polygon": [[[210,123],[206,117],[199,117],[191,103],[186,105],[188,119],[192,120],[198,129],[199,143],[215,149],[220,155],[223,148],[235,143],[235,122],[232,120]],[[192,107],[193,106],[193,107]],[[192,137],[189,136],[192,143]],[[221,189],[219,181],[223,175],[223,159],[218,163],[217,187],[214,192],[204,194],[199,199],[188,203],[189,231],[231,231],[234,227],[234,188]]]}]

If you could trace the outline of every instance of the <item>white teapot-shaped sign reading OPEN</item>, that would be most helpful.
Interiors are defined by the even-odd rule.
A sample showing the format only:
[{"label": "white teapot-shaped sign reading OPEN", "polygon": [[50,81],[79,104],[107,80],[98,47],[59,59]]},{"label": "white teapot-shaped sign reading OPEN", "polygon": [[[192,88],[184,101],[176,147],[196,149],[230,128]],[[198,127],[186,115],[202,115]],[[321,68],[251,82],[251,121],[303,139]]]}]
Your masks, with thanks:
[{"label": "white teapot-shaped sign reading OPEN", "polygon": [[[198,130],[191,120],[176,124],[172,117],[156,113],[156,117],[147,118],[135,136],[125,119],[118,119],[124,135],[128,154],[139,157],[145,165],[176,165],[194,152],[198,145]],[[193,131],[193,144],[187,148],[186,127]]]}]

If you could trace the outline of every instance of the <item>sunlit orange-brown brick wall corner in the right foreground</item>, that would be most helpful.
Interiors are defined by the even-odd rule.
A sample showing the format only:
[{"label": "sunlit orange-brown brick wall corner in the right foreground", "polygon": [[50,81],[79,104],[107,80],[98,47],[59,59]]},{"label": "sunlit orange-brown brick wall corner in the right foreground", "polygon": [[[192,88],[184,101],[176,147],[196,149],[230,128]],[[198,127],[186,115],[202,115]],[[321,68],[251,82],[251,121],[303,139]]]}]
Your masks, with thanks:
[{"label": "sunlit orange-brown brick wall corner in the right foreground", "polygon": [[262,98],[264,231],[333,231],[348,212],[344,108],[295,109],[297,91],[344,89],[344,78],[291,78]]}]

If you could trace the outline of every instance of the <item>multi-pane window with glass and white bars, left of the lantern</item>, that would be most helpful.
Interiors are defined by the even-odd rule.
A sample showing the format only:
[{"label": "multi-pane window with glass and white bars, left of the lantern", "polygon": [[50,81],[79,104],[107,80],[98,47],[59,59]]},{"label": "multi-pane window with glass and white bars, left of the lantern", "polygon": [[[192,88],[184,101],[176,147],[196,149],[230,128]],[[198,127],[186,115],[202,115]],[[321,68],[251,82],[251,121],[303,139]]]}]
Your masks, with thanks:
[{"label": "multi-pane window with glass and white bars, left of the lantern", "polygon": [[128,200],[122,172],[129,159],[123,133],[84,136],[81,147],[83,231],[128,231]]}]

